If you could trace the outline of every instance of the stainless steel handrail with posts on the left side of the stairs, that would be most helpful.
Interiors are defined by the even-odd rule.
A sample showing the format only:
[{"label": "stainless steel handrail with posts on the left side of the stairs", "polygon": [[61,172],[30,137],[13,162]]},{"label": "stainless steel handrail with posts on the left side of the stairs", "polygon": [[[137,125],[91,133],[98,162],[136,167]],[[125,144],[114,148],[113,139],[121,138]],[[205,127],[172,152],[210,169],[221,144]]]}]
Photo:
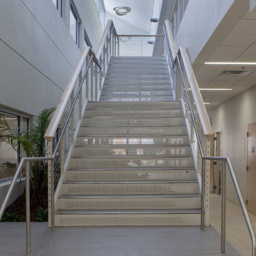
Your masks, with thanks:
[{"label": "stainless steel handrail with posts on the left side of the stairs", "polygon": [[[112,27],[111,33],[113,31],[115,31],[115,26]],[[88,62],[87,68],[85,69],[85,73],[82,76],[82,79],[79,84],[79,88],[76,92],[76,95],[74,96],[73,103],[68,112],[68,116],[66,117],[65,123],[63,124],[63,129],[62,129],[62,132],[60,133],[60,137],[55,146],[55,150],[54,150],[54,153],[52,154],[52,157],[23,157],[21,159],[20,164],[18,165],[15,175],[13,176],[13,179],[12,179],[12,182],[10,183],[10,187],[7,191],[7,194],[4,197],[4,201],[2,202],[2,205],[0,208],[0,220],[1,220],[2,216],[4,215],[5,207],[10,199],[10,195],[12,194],[13,188],[15,187],[18,177],[20,176],[23,165],[24,165],[24,163],[26,163],[26,173],[25,173],[26,188],[25,189],[26,189],[26,249],[27,249],[27,254],[30,254],[30,172],[29,172],[29,163],[30,162],[51,161],[51,191],[52,191],[52,193],[51,193],[51,230],[53,231],[54,230],[54,164],[53,164],[53,160],[57,155],[63,135],[65,134],[66,127],[68,126],[69,119],[71,118],[72,112],[74,110],[77,99],[79,97],[80,90],[82,88],[82,85],[84,84],[85,77],[87,76],[88,69],[91,65],[91,61],[94,60],[94,62],[96,62],[96,65],[98,65],[100,69],[102,68],[104,59],[105,59],[105,55],[107,54],[107,51],[108,51],[110,39],[111,38],[108,38],[107,45],[106,45],[105,52],[102,57],[101,63],[99,63],[98,59],[96,59],[93,52],[91,52],[90,60]]]}]

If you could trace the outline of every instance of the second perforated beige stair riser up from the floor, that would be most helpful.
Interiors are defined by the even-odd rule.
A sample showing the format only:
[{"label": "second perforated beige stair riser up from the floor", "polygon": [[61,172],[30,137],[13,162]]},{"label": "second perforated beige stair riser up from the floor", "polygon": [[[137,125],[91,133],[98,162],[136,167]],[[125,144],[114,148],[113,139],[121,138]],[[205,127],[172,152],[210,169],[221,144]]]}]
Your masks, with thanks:
[{"label": "second perforated beige stair riser up from the floor", "polygon": [[58,199],[57,208],[65,210],[152,210],[201,208],[200,197],[183,198],[104,198]]}]

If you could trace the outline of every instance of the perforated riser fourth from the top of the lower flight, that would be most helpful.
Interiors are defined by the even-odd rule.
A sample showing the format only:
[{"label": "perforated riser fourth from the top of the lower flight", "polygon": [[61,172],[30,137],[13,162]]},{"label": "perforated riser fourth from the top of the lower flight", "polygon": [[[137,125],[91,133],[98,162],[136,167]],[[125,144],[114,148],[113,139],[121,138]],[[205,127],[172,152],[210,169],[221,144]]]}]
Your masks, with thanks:
[{"label": "perforated riser fourth from the top of the lower flight", "polygon": [[105,126],[105,127],[80,127],[80,136],[87,135],[187,135],[187,126],[165,126],[165,127],[153,127],[153,126],[138,126],[138,127],[122,127],[122,126]]}]

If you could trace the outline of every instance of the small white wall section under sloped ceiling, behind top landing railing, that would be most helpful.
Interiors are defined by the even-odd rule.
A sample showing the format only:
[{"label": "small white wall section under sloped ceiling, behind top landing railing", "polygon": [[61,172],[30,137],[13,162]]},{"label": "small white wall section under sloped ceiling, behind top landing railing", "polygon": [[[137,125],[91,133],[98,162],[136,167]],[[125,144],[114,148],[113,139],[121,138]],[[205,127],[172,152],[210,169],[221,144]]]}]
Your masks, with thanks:
[{"label": "small white wall section under sloped ceiling, behind top landing railing", "polygon": [[127,21],[121,20],[120,18],[116,17],[115,15],[112,15],[109,12],[105,12],[105,24],[107,24],[108,20],[112,20],[115,28],[116,33],[119,35],[149,35],[149,32],[146,32],[143,29],[140,29],[140,27],[136,27]]}]

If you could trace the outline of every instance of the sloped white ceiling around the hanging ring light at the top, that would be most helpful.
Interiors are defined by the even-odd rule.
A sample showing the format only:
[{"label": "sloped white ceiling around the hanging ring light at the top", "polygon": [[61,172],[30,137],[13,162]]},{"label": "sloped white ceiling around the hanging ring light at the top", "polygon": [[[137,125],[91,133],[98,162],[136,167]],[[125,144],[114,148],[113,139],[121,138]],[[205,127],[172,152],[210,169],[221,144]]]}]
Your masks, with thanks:
[{"label": "sloped white ceiling around the hanging ring light at the top", "polygon": [[[127,15],[118,16],[113,8],[121,6],[130,7],[132,10]],[[104,7],[106,12],[150,33],[154,0],[104,0]]]}]

